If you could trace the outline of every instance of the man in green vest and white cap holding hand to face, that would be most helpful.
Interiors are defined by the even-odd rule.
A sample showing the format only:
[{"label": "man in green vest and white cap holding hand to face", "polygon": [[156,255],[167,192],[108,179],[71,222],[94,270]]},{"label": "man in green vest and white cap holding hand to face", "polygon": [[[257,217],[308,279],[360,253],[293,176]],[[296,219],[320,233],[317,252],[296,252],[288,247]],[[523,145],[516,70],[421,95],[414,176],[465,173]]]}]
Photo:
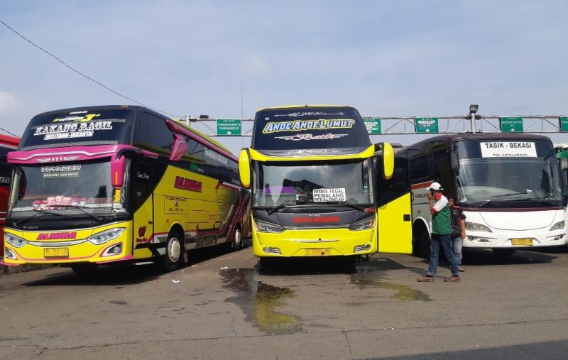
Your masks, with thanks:
[{"label": "man in green vest and white cap holding hand to face", "polygon": [[428,265],[428,273],[422,278],[416,280],[420,283],[431,283],[434,281],[438,270],[439,247],[442,246],[444,254],[450,263],[450,271],[452,276],[445,278],[444,281],[455,283],[459,281],[459,272],[457,270],[456,258],[452,251],[452,221],[449,217],[449,204],[447,198],[442,194],[442,186],[438,182],[432,182],[428,187],[430,194],[428,202],[430,202],[430,214],[432,214],[432,224],[430,236],[430,264]]}]

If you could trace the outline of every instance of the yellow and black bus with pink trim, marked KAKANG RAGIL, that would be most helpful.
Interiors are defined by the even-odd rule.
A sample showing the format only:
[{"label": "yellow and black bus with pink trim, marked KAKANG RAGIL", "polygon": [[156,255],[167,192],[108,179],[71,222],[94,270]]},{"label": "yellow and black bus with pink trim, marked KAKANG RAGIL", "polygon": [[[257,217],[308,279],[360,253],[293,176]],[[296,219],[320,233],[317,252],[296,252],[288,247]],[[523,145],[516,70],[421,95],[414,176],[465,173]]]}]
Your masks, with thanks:
[{"label": "yellow and black bus with pink trim, marked KAKANG RAGIL", "polygon": [[4,263],[148,261],[172,271],[187,251],[242,247],[250,195],[238,159],[144,107],[63,109],[31,119],[17,151]]}]

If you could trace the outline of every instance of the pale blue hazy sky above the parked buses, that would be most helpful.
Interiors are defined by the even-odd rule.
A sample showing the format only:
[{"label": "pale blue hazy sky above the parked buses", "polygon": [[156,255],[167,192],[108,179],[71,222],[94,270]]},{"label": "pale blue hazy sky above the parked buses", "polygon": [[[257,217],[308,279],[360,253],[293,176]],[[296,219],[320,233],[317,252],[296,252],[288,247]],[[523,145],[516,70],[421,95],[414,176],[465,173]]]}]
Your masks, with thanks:
[{"label": "pale blue hazy sky above the parked buses", "polygon": [[[241,93],[245,118],[283,104],[568,114],[567,18],[567,1],[0,1],[2,21],[116,92],[214,118],[241,117]],[[0,126],[12,133],[43,111],[133,104],[1,25],[0,49]],[[249,139],[221,141],[236,152]]]}]

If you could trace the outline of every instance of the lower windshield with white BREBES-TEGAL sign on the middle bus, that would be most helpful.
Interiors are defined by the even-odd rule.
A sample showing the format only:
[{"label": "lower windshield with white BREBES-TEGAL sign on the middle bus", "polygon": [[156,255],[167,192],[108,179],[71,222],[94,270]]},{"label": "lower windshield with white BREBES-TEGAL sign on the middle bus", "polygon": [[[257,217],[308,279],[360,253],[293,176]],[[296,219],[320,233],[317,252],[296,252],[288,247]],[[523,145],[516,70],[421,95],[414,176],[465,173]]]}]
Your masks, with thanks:
[{"label": "lower windshield with white BREBES-TEGAL sign on the middle bus", "polygon": [[349,202],[372,204],[370,160],[255,163],[255,207]]}]

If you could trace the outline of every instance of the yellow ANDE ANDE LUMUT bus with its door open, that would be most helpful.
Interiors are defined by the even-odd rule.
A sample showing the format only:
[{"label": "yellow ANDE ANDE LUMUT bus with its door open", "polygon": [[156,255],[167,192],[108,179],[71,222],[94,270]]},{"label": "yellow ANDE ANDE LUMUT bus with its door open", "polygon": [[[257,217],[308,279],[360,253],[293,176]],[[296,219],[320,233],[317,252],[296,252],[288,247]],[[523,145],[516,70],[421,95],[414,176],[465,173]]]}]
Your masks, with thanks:
[{"label": "yellow ANDE ANDE LUMUT bus with its door open", "polygon": [[[300,105],[256,113],[241,150],[252,193],[253,253],[272,258],[411,253],[410,187],[393,187],[393,148],[371,144],[353,107]],[[400,187],[399,187],[400,190]],[[392,194],[396,194],[392,196]]]}]

